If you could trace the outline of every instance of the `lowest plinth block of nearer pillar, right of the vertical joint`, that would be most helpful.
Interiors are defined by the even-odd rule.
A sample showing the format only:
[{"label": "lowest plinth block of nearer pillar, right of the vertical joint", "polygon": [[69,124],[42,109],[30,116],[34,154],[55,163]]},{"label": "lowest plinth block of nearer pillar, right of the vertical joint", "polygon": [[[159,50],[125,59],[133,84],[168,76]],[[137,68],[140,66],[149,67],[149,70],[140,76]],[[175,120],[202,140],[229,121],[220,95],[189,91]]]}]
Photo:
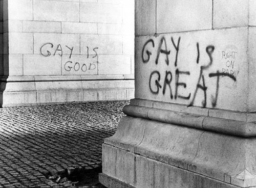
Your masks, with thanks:
[{"label": "lowest plinth block of nearer pillar, right of the vertical joint", "polygon": [[[170,187],[170,188],[238,188],[216,179],[189,172],[180,168],[157,162],[150,158],[136,155],[135,187]],[[138,170],[138,171],[137,171]]]}]

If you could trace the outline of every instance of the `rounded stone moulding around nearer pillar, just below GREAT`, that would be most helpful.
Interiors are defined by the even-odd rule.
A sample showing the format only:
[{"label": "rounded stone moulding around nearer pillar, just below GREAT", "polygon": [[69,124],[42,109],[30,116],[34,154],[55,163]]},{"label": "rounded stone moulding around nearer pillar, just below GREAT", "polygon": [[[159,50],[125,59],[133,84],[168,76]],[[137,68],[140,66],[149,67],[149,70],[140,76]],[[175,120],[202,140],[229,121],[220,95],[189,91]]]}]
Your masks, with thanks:
[{"label": "rounded stone moulding around nearer pillar, just below GREAT", "polygon": [[[133,102],[131,103],[133,104]],[[209,117],[193,114],[193,111],[190,113],[177,112],[142,107],[138,105],[124,106],[123,112],[129,116],[160,121],[163,123],[172,123],[175,125],[182,125],[240,137],[256,137],[256,124],[254,122]]]}]

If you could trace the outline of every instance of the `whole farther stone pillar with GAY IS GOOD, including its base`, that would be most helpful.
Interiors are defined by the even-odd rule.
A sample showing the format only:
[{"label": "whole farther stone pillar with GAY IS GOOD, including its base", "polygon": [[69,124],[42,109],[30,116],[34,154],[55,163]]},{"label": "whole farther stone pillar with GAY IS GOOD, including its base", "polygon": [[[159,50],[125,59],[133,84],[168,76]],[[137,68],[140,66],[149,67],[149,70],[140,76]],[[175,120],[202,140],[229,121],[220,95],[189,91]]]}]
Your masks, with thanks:
[{"label": "whole farther stone pillar with GAY IS GOOD, including its base", "polygon": [[130,99],[134,2],[2,0],[3,105]]}]

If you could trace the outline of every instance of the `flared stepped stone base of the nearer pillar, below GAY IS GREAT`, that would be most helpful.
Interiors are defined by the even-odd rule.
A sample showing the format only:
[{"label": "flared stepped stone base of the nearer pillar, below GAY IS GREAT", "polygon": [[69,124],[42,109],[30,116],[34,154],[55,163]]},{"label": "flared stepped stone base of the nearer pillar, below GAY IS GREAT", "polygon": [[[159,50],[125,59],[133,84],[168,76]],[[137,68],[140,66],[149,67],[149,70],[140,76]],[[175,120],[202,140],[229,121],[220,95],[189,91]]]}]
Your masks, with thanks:
[{"label": "flared stepped stone base of the nearer pillar, below GAY IS GREAT", "polygon": [[[133,100],[125,106],[129,116],[120,121],[114,136],[104,140],[101,183],[145,188],[256,186],[254,122],[139,104]],[[201,112],[193,109],[187,110]]]}]

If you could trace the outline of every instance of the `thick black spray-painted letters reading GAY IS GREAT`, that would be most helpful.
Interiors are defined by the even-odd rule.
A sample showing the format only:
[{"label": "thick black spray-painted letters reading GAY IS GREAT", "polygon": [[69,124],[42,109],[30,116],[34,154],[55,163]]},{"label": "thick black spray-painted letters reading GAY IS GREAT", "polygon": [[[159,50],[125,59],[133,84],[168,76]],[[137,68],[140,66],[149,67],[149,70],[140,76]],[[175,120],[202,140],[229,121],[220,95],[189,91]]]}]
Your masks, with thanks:
[{"label": "thick black spray-painted letters reading GAY IS GREAT", "polygon": [[[177,62],[178,62],[178,52],[179,52],[179,46],[180,46],[180,37],[178,39],[178,42],[177,42],[177,45],[175,44],[174,42],[174,39],[171,38],[172,40],[172,43],[174,45],[174,48],[176,49],[176,58],[175,58],[175,66],[177,66]],[[152,51],[148,51],[146,50],[145,51],[145,47],[148,45],[148,44],[151,44],[153,46],[153,48],[155,47],[155,43],[154,43],[154,40],[153,39],[150,39],[148,40],[145,45],[143,46],[143,50],[142,50],[142,61],[143,63],[147,63],[150,61],[150,58],[152,56]],[[164,46],[164,49],[162,49]],[[196,47],[197,47],[197,59],[196,59],[196,63],[199,64],[199,61],[200,61],[200,48],[199,48],[199,43],[197,42],[196,43]],[[199,74],[199,78],[198,78],[198,82],[197,82],[197,85],[196,85],[196,89],[194,91],[194,95],[193,95],[193,99],[191,100],[189,106],[193,105],[194,104],[194,101],[195,101],[195,98],[197,96],[197,93],[200,90],[203,91],[204,93],[204,99],[202,100],[202,106],[205,108],[206,105],[207,105],[207,86],[206,86],[206,82],[205,82],[205,75],[204,75],[204,72],[206,70],[208,70],[212,63],[213,63],[213,57],[212,57],[212,53],[214,53],[214,50],[215,50],[215,46],[213,45],[208,45],[206,48],[205,48],[205,51],[209,57],[209,62],[207,62],[207,64],[205,65],[202,65],[200,66],[200,74]],[[167,65],[169,65],[169,59],[168,59],[168,55],[169,55],[169,51],[167,50],[167,46],[166,46],[166,40],[164,37],[161,38],[161,41],[159,43],[159,46],[158,46],[158,49],[157,49],[157,58],[156,58],[156,64],[158,64],[158,60],[159,60],[159,56],[160,54],[163,53],[164,55],[166,55],[166,58],[165,58],[165,63]],[[146,59],[144,59],[144,55],[147,55]],[[223,58],[225,57],[232,57],[232,58],[235,58],[236,56],[236,53],[232,52],[230,53],[231,55],[224,55],[223,53]],[[229,67],[233,67],[234,65],[234,61],[230,61],[229,64],[226,64],[226,66],[229,66]],[[210,73],[209,74],[209,77],[217,77],[217,83],[216,83],[216,91],[215,91],[215,96],[214,95],[211,95],[211,105],[213,108],[216,107],[217,105],[217,100],[218,100],[218,94],[219,94],[219,82],[220,82],[220,77],[229,77],[231,78],[234,82],[236,82],[237,80],[237,75],[238,75],[239,71],[236,72],[235,71],[229,71],[227,72],[226,70],[223,72],[219,72],[217,71],[216,73]],[[149,82],[149,87],[150,87],[150,91],[157,95],[159,94],[159,91],[160,89],[162,88],[163,86],[163,95],[166,94],[166,90],[167,90],[167,86],[169,88],[169,92],[170,92],[170,99],[177,99],[177,98],[180,98],[180,99],[184,99],[184,100],[189,100],[190,97],[191,97],[191,93],[187,94],[186,96],[183,96],[183,95],[179,95],[179,87],[183,87],[183,88],[186,88],[187,85],[186,83],[183,83],[183,82],[180,82],[179,79],[180,79],[180,76],[183,75],[183,76],[189,76],[190,75],[190,72],[189,71],[180,71],[179,69],[176,69],[176,82],[175,82],[175,95],[173,96],[173,91],[172,91],[172,87],[171,87],[171,83],[172,83],[172,80],[173,80],[173,75],[172,75],[172,72],[171,71],[165,71],[165,78],[163,80],[163,85],[161,85],[161,74],[159,71],[155,70],[151,73],[150,75],[150,82]]]}]

